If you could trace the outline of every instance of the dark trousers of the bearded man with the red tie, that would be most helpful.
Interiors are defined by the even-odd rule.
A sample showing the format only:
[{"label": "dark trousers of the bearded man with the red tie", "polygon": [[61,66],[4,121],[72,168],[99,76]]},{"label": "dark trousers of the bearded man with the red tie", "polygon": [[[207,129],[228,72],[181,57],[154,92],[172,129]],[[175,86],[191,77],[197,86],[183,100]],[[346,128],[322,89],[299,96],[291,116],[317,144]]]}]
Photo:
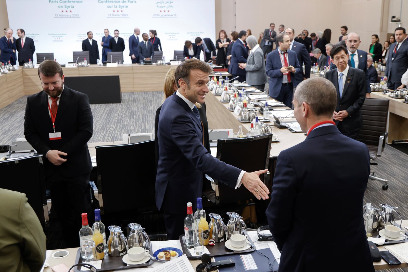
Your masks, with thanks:
[{"label": "dark trousers of the bearded man with the red tie", "polygon": [[61,177],[54,173],[47,178],[51,191],[51,212],[57,215],[67,247],[79,247],[79,230],[82,226],[81,214],[88,214],[89,226],[93,224],[93,211],[89,191],[89,175]]}]

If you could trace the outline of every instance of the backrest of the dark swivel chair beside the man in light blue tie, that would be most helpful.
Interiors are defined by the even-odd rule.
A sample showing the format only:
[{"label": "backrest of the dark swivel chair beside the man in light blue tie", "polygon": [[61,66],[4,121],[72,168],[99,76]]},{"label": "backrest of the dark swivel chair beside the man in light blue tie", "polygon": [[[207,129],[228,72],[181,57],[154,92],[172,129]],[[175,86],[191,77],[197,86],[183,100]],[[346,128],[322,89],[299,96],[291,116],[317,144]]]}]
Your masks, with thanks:
[{"label": "backrest of the dark swivel chair beside the man in light blue tie", "polygon": [[390,100],[388,99],[366,98],[364,100],[361,107],[363,128],[360,129],[359,133],[360,142],[378,146],[379,136],[386,132],[389,104]]}]

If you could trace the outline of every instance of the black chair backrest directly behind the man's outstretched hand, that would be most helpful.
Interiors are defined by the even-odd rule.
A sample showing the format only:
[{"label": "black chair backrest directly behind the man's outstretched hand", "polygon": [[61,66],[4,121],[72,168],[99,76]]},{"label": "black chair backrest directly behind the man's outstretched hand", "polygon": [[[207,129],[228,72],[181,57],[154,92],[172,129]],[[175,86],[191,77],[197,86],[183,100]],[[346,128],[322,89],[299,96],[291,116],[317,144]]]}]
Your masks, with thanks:
[{"label": "black chair backrest directly behind the man's outstretched hand", "polygon": [[[217,145],[217,158],[246,172],[267,169],[271,143],[272,133],[246,138],[220,139]],[[264,181],[264,176],[259,178]],[[217,204],[236,203],[255,198],[244,186],[235,190],[220,182],[216,186],[215,195]]]}]

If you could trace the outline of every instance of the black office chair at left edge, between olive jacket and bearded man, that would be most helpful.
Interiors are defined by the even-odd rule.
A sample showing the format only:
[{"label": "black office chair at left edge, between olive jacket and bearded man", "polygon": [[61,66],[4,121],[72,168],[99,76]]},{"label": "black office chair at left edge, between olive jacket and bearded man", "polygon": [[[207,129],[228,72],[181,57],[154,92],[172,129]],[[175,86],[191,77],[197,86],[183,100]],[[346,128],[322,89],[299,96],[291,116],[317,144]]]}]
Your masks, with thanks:
[{"label": "black office chair at left edge, between olive jacket and bearded man", "polygon": [[[0,188],[26,194],[42,227],[49,224],[42,155],[0,161]],[[7,205],[7,203],[2,203]]]}]

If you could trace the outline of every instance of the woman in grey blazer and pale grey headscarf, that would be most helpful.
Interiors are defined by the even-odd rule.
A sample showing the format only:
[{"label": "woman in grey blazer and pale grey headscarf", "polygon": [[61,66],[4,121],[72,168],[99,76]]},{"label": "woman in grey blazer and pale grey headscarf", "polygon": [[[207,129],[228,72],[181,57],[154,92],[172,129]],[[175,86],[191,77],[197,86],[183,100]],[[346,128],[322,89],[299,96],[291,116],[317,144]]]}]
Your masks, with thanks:
[{"label": "woman in grey blazer and pale grey headscarf", "polygon": [[246,63],[239,63],[241,69],[246,70],[246,82],[260,90],[265,89],[268,82],[265,69],[265,58],[262,48],[259,47],[257,38],[251,35],[246,38],[248,48],[251,49]]}]

